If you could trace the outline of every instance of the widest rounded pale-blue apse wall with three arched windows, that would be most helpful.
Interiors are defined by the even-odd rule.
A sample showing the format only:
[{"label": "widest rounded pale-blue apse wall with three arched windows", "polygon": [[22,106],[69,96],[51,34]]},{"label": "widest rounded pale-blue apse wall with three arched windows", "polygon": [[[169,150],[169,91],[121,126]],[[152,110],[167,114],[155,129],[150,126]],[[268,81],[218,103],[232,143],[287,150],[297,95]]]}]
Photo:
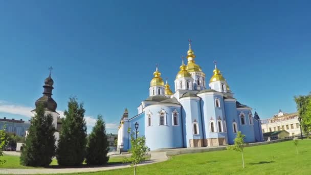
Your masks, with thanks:
[{"label": "widest rounded pale-blue apse wall with three arched windows", "polygon": [[[173,125],[173,112],[177,113],[177,125]],[[164,113],[164,125],[160,125],[160,115]],[[151,125],[148,126],[148,115]],[[151,149],[183,147],[181,106],[165,103],[150,105],[145,108],[146,145]]]}]

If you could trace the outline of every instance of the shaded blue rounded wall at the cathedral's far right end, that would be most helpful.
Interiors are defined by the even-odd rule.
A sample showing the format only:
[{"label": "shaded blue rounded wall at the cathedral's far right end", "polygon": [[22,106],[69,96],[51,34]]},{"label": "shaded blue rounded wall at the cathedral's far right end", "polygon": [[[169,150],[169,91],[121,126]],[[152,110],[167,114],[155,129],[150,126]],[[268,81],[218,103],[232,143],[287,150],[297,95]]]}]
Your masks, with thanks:
[{"label": "shaded blue rounded wall at the cathedral's far right end", "polygon": [[[242,125],[241,123],[241,117],[239,116],[243,112],[245,114],[245,124]],[[239,116],[239,129],[243,135],[245,135],[245,142],[255,142],[255,134],[254,134],[254,120],[252,121],[252,124],[250,124],[250,118],[249,114],[251,113],[250,109],[243,109],[240,110],[237,108],[237,115]]]}]

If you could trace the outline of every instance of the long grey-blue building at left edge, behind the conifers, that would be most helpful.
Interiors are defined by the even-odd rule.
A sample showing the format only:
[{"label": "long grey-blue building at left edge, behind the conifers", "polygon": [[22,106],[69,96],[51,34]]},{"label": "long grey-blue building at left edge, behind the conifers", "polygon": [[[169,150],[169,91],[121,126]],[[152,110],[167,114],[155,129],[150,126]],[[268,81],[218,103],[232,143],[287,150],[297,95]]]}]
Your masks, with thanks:
[{"label": "long grey-blue building at left edge, behind the conifers", "polygon": [[4,117],[0,119],[0,129],[3,129],[4,126],[6,126],[6,131],[8,133],[14,133],[17,136],[24,137],[26,135],[26,130],[28,130],[30,126],[30,121],[7,119]]}]

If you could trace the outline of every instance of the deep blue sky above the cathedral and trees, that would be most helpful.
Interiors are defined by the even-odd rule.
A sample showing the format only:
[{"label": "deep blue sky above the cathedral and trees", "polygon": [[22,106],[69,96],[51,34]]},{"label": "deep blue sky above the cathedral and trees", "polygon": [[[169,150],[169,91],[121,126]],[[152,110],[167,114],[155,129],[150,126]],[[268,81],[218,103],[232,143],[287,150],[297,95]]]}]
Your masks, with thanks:
[{"label": "deep blue sky above the cathedral and trees", "polygon": [[52,66],[57,110],[76,96],[115,132],[124,108],[134,116],[148,97],[156,63],[173,88],[188,38],[207,80],[216,59],[235,97],[261,118],[295,112],[294,95],[311,91],[310,9],[309,1],[1,1],[0,117],[28,119],[18,110],[34,107]]}]

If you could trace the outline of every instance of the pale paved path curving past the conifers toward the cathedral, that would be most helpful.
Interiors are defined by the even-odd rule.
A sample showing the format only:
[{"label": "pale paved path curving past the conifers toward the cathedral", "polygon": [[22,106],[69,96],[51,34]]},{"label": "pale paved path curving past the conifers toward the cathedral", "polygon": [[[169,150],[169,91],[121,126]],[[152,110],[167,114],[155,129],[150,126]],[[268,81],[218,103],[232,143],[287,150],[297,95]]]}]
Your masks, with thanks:
[{"label": "pale paved path curving past the conifers toward the cathedral", "polygon": [[[9,155],[12,155],[12,154],[9,154]],[[148,165],[148,164],[157,163],[157,162],[163,162],[167,160],[166,152],[150,152],[150,154],[151,154],[150,160],[140,164],[139,166]],[[127,167],[130,167],[130,165],[129,164],[117,164],[117,165],[108,165],[108,166],[100,166],[100,167],[92,167],[92,168],[43,168],[43,169],[0,168],[0,174],[43,174],[43,173],[52,174],[52,173],[73,173],[73,172],[95,172],[95,171],[105,171],[105,170],[111,170],[111,169],[127,168]]]}]

